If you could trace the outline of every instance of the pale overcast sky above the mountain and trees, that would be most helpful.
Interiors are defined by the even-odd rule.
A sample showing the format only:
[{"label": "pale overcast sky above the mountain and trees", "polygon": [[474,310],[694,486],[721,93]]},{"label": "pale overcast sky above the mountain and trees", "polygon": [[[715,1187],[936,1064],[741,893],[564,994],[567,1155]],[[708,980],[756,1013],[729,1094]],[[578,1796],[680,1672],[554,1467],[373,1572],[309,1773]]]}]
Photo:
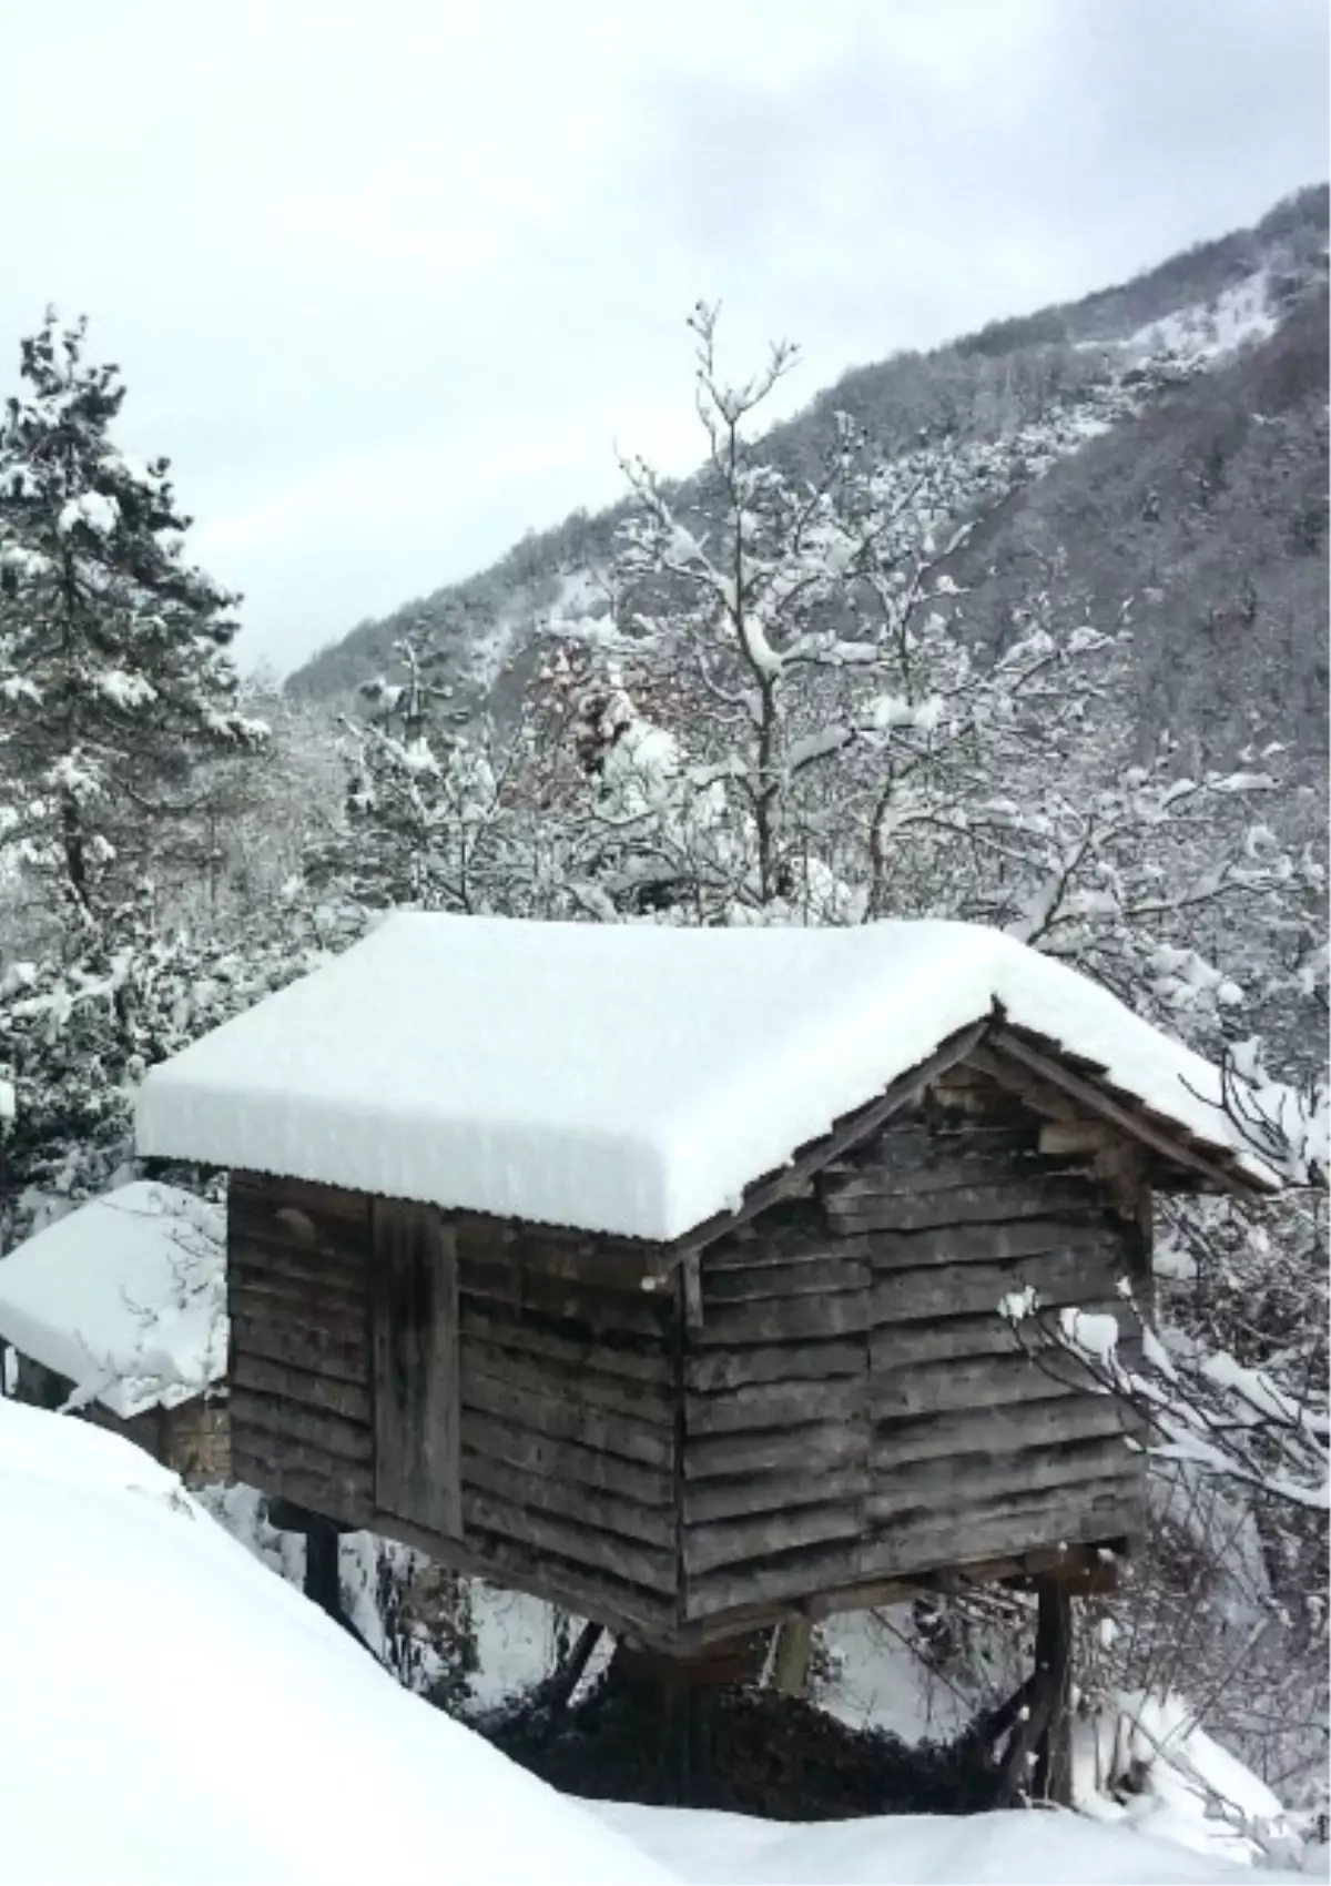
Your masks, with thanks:
[{"label": "pale overcast sky above the mountain and trees", "polygon": [[1331,0],[9,0],[0,70],[0,385],[90,315],[279,668],[686,470],[699,296],[803,404],[1331,179]]}]

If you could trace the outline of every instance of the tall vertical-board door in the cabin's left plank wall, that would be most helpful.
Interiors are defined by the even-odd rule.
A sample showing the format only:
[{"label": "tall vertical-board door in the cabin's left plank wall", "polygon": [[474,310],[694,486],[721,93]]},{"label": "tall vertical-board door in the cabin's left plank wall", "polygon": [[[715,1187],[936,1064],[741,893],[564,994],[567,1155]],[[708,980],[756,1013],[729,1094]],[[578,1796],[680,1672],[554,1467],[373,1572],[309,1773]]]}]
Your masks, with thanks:
[{"label": "tall vertical-board door in the cabin's left plank wall", "polygon": [[375,1505],[462,1530],[458,1267],[430,1205],[375,1199]]}]

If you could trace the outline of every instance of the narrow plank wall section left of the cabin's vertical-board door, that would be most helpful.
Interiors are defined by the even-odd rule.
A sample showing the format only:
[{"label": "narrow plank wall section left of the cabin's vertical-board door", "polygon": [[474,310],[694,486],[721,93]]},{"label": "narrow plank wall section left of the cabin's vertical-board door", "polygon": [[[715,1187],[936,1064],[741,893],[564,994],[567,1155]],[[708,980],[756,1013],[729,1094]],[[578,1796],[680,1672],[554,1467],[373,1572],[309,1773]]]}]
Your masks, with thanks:
[{"label": "narrow plank wall section left of the cabin's vertical-board door", "polygon": [[226,1266],[236,1479],[368,1526],[370,1199],[232,1173]]}]

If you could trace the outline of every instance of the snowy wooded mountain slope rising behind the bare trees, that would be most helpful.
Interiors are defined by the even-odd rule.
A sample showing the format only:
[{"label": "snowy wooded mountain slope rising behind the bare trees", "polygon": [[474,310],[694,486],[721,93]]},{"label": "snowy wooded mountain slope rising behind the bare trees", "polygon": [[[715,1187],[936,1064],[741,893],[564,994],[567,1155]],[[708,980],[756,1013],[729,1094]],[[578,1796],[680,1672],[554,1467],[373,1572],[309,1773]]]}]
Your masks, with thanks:
[{"label": "snowy wooded mountain slope rising behind the bare trees", "polygon": [[[1297,649],[1273,660],[1267,647],[1256,664],[1256,692],[1269,696],[1257,717],[1278,720],[1282,734],[1293,717],[1322,737],[1331,620],[1318,598],[1331,585],[1320,568],[1327,500],[1318,481],[1329,402],[1331,185],[1118,289],[846,373],[779,426],[767,449],[794,477],[813,477],[846,413],[884,466],[922,455],[1020,462],[1020,498],[982,534],[982,562],[967,568],[967,619],[980,639],[1001,636],[1014,590],[1031,581],[1035,541],[1044,568],[1048,558],[1061,566],[1071,607],[1086,598],[1116,615],[1131,600],[1139,634],[1148,630],[1146,717],[1158,707],[1150,664],[1159,658],[1161,671],[1176,671],[1171,705],[1184,722],[1239,737],[1250,732],[1231,728],[1248,715],[1233,700],[1244,694],[1244,651],[1197,651],[1199,630],[1250,583],[1269,602],[1273,628],[1297,619]],[[977,496],[982,487],[977,479]],[[405,628],[424,628],[447,651],[456,719],[486,705],[503,713],[534,639],[607,611],[622,515],[575,513],[471,581],[360,624],[292,675],[290,688],[345,700],[392,666]]]}]

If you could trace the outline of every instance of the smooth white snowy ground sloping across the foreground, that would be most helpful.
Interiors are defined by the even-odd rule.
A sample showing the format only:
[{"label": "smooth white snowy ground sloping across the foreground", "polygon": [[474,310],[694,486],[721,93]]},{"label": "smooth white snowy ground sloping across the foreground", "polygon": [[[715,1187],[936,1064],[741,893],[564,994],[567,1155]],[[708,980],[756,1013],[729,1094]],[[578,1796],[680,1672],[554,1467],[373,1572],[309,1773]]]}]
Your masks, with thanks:
[{"label": "smooth white snowy ground sloping across the foreground", "polygon": [[[575,1803],[402,1690],[102,1430],[0,1401],[0,1856],[25,1886],[1233,1877],[1073,1816],[788,1828]],[[539,1622],[509,1624],[517,1669]]]}]

